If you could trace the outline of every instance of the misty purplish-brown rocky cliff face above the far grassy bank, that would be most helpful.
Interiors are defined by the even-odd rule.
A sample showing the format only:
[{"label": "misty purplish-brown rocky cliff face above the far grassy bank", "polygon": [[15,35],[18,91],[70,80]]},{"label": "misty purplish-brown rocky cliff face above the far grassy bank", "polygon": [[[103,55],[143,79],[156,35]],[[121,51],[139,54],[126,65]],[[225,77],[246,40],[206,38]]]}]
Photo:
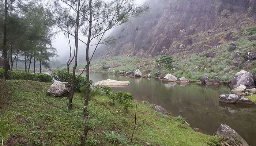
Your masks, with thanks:
[{"label": "misty purplish-brown rocky cliff face above the far grassy bank", "polygon": [[[256,0],[148,0],[146,4],[149,10],[123,25],[125,36],[101,46],[98,57],[202,52],[230,41],[243,27],[256,25]],[[111,35],[120,32],[116,29]]]}]

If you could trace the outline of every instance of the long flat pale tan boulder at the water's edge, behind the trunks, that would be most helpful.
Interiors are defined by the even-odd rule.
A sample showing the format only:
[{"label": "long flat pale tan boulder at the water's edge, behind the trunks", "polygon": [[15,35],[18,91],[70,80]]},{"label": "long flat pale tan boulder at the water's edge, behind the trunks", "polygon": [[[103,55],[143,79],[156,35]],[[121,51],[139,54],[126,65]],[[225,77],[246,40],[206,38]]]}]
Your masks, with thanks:
[{"label": "long flat pale tan boulder at the water's edge, behind the trunks", "polygon": [[119,87],[119,86],[128,86],[130,85],[130,82],[128,81],[116,81],[116,80],[103,80],[95,82],[94,85],[98,86],[109,86],[109,87]]}]

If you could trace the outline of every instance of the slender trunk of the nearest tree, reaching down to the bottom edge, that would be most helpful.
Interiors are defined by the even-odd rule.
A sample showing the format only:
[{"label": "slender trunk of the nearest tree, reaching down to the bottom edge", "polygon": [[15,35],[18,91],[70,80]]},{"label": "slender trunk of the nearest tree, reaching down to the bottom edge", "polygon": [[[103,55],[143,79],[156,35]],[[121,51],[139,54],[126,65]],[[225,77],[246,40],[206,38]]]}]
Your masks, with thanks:
[{"label": "slender trunk of the nearest tree, reaching down to the bottom edge", "polygon": [[89,0],[89,32],[87,38],[87,45],[86,45],[86,90],[85,90],[85,98],[84,98],[84,108],[83,108],[83,115],[84,115],[84,131],[81,136],[81,146],[84,146],[85,139],[87,138],[87,134],[89,131],[88,127],[88,100],[90,99],[90,61],[89,61],[89,47],[91,41],[91,30],[92,30],[92,0]]}]

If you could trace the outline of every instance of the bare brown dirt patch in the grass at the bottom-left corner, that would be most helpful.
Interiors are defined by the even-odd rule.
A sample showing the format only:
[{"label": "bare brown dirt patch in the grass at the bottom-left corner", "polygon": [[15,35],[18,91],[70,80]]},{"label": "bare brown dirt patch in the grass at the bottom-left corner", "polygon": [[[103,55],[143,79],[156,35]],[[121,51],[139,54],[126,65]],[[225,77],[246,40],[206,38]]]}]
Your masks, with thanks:
[{"label": "bare brown dirt patch in the grass at the bottom-left corner", "polygon": [[12,134],[4,141],[4,146],[27,145],[26,139],[21,134]]}]

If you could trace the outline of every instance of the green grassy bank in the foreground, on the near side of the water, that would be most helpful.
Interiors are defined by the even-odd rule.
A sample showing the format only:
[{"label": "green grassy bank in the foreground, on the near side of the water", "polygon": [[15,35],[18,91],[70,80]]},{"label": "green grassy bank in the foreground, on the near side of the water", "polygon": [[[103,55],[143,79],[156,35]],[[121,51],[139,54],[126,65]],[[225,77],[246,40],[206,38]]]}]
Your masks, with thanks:
[{"label": "green grassy bank in the foreground, on the near side of the water", "polygon": [[[67,98],[46,96],[50,83],[36,81],[8,81],[10,106],[2,109],[0,139],[5,145],[78,145],[83,126],[82,94],[76,93],[74,110],[67,110]],[[134,141],[131,137],[135,107],[124,112],[116,103],[109,104],[105,96],[95,96],[89,102],[89,141],[87,146],[217,146],[220,139],[195,132],[182,124],[180,117],[164,116],[149,104],[138,105]],[[113,144],[114,140],[118,142]]]}]

